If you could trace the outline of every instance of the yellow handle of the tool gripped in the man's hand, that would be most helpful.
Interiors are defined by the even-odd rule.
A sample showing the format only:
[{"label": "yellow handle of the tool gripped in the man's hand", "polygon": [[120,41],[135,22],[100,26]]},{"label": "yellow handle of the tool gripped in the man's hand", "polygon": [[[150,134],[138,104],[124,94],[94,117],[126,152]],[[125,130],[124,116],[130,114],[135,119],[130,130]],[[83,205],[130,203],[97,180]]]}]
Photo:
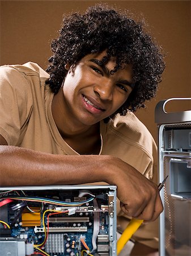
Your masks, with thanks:
[{"label": "yellow handle of the tool gripped in the man's hand", "polygon": [[128,226],[122,233],[120,239],[117,241],[117,255],[120,253],[120,251],[125,246],[125,243],[130,240],[131,236],[133,236],[133,234],[137,231],[142,223],[143,220],[137,220],[135,218],[132,218],[132,220],[129,222]]}]

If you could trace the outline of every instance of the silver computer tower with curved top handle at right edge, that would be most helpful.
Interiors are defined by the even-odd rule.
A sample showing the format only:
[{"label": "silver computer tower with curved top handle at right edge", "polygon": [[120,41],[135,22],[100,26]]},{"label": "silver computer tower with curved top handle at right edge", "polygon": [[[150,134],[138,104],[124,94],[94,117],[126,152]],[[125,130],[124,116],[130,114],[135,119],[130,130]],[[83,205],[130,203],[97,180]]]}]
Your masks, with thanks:
[{"label": "silver computer tower with curved top handle at right edge", "polygon": [[[159,127],[159,182],[168,175],[161,196],[160,256],[191,255],[191,111],[167,113],[160,101],[155,109]],[[191,109],[191,108],[190,108]]]}]

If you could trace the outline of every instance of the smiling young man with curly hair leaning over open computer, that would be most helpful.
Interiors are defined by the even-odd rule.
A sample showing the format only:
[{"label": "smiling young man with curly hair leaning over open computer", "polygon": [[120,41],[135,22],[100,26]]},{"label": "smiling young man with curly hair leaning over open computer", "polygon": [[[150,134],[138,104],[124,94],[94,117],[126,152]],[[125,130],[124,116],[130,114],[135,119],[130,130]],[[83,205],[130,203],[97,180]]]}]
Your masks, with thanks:
[{"label": "smiling young man with curly hair leaning over open computer", "polygon": [[121,223],[156,220],[156,145],[133,112],[155,96],[160,48],[125,11],[96,5],[65,16],[52,51],[49,75],[0,68],[1,185],[104,181],[117,185]]}]

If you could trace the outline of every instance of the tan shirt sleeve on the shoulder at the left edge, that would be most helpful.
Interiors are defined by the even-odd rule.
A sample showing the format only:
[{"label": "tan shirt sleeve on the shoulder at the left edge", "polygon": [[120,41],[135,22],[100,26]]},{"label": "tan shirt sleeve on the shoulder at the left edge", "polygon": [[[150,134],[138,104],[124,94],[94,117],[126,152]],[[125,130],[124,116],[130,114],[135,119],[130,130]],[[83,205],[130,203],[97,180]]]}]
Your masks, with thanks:
[{"label": "tan shirt sleeve on the shoulder at the left edge", "polygon": [[24,73],[0,67],[0,134],[15,146],[32,110],[31,89]]}]

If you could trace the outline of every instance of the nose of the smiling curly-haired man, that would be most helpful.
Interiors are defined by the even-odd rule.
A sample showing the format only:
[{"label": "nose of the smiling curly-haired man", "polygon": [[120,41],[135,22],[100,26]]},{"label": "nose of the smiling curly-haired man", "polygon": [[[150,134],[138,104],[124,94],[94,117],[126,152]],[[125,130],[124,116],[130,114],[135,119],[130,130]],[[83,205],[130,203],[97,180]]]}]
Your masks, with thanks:
[{"label": "nose of the smiling curly-haired man", "polygon": [[101,100],[111,101],[113,98],[113,84],[109,79],[104,79],[94,86],[94,92],[99,94]]}]

